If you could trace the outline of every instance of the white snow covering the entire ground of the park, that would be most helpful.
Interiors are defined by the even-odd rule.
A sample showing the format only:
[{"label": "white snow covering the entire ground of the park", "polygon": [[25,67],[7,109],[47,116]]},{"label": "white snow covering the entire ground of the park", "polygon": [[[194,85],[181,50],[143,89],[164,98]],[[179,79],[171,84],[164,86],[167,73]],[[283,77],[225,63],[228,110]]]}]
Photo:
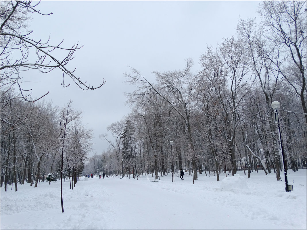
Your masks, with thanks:
[{"label": "white snow covering the entire ground of the park", "polygon": [[243,171],[227,178],[207,172],[198,180],[170,174],[159,182],[149,175],[138,180],[81,177],[71,190],[60,180],[37,188],[19,185],[1,192],[1,229],[307,229],[306,169],[288,170],[285,191],[276,174]]}]

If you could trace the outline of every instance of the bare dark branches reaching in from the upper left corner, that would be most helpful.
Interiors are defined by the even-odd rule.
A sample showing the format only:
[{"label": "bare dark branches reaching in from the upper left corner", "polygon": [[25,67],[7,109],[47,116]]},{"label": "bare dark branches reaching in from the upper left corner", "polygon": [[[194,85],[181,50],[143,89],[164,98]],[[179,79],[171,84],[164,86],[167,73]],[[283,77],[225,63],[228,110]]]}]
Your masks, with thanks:
[{"label": "bare dark branches reaching in from the upper left corner", "polygon": [[[97,86],[89,86],[86,81],[80,80],[74,74],[74,70],[69,70],[67,64],[74,58],[75,52],[82,48],[78,44],[66,48],[60,44],[52,45],[50,39],[45,42],[41,39],[32,38],[33,30],[28,29],[28,22],[33,13],[41,15],[50,15],[41,13],[37,10],[37,5],[32,1],[3,1],[1,2],[1,86],[8,89],[17,86],[22,97],[27,101],[36,101],[38,99],[29,99],[30,90],[21,87],[22,71],[36,69],[41,73],[49,73],[54,69],[60,69],[62,72],[63,87],[70,83],[65,83],[65,77],[69,77],[82,90],[94,90],[103,86],[106,81]],[[58,51],[67,52],[64,57],[56,57]],[[17,52],[20,52],[17,55]],[[36,60],[32,56],[36,55]],[[30,58],[31,57],[31,58]]]}]

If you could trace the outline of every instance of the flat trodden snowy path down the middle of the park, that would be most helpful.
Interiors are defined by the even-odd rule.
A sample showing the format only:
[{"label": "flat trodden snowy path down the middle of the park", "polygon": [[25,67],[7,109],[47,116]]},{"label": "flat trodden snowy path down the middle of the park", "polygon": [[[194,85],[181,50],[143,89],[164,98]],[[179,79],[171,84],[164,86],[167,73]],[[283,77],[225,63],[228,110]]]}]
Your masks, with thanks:
[{"label": "flat trodden snowy path down the middle of the park", "polygon": [[[163,183],[169,186],[169,182],[138,182],[123,179],[122,181],[106,180],[104,183],[108,188],[108,194],[113,194],[106,196],[108,197],[106,203],[112,203],[113,207],[122,209],[122,212],[113,213],[116,215],[115,226],[112,226],[115,229],[202,229],[204,226],[213,228],[209,220],[216,218],[216,213],[226,215],[222,206],[212,206],[213,202],[210,199],[200,199],[197,194],[176,192],[179,188],[174,183],[170,184],[171,189],[163,189]],[[183,183],[185,183],[184,186],[193,186],[185,181],[181,182],[181,185]],[[180,189],[184,188],[181,186]],[[122,194],[118,193],[120,190]],[[210,207],[210,212],[206,215],[203,211],[205,207]],[[133,222],[131,218],[134,219]],[[120,225],[116,224],[119,222],[121,222]],[[125,226],[125,223],[130,224]],[[221,228],[227,226],[224,224],[227,223],[221,223]]]}]

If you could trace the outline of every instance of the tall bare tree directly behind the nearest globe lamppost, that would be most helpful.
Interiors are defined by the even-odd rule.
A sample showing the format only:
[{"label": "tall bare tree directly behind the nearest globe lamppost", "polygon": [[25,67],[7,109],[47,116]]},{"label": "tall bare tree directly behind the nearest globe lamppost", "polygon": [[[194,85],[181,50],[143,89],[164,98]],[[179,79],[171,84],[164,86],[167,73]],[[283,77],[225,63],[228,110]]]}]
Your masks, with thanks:
[{"label": "tall bare tree directly behind the nearest globe lamppost", "polygon": [[272,142],[272,152],[274,155],[274,163],[276,167],[276,178],[279,181],[279,145],[278,136],[276,132],[275,124],[273,123],[273,111],[271,109],[271,103],[273,102],[274,94],[280,84],[279,71],[274,69],[274,61],[277,65],[282,65],[285,59],[275,56],[276,59],[272,61],[269,57],[271,53],[275,55],[280,51],[280,44],[267,44],[267,40],[261,37],[262,32],[257,30],[255,20],[247,19],[241,20],[237,26],[237,31],[242,39],[247,43],[247,48],[249,50],[249,56],[251,62],[254,66],[255,75],[259,80],[262,92],[265,96],[266,101],[266,113],[267,120],[269,123],[270,136],[266,136],[267,141]]}]

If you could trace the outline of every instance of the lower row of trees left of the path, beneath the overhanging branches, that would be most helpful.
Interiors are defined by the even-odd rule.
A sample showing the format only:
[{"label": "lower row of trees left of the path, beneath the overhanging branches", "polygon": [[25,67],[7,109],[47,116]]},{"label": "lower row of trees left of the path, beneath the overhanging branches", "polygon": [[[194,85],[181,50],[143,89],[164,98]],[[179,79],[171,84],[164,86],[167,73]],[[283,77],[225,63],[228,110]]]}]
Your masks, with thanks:
[{"label": "lower row of trees left of the path, beneath the overhanging branches", "polygon": [[51,173],[72,178],[73,189],[91,151],[92,130],[82,125],[81,118],[71,101],[58,109],[2,93],[1,187],[4,183],[6,191],[13,182],[15,191],[18,182],[37,187]]}]

